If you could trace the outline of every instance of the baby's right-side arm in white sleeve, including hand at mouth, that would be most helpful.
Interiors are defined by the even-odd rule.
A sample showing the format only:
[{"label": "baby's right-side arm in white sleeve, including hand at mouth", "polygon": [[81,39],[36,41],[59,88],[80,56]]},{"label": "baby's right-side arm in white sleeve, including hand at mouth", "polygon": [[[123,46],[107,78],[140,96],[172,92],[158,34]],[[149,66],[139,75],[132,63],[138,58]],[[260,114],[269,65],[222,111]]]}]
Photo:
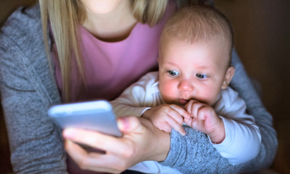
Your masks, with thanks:
[{"label": "baby's right-side arm in white sleeve, including hand at mouth", "polygon": [[246,105],[237,92],[231,88],[223,92],[223,98],[215,106],[215,110],[222,116],[218,117],[213,108],[204,105],[196,101],[189,102],[186,110],[193,115],[193,120],[185,119],[185,122],[206,133],[222,157],[236,165],[258,155],[260,131],[254,118],[245,112]]}]

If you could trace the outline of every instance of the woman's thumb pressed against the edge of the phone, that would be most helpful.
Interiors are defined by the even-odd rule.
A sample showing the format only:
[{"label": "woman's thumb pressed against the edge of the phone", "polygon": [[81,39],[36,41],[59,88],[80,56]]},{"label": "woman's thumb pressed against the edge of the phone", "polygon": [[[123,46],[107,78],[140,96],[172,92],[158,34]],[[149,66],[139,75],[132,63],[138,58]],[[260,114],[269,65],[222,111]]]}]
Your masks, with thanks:
[{"label": "woman's thumb pressed against the edge of the phone", "polygon": [[143,126],[137,117],[119,117],[117,125],[122,132],[139,132]]}]

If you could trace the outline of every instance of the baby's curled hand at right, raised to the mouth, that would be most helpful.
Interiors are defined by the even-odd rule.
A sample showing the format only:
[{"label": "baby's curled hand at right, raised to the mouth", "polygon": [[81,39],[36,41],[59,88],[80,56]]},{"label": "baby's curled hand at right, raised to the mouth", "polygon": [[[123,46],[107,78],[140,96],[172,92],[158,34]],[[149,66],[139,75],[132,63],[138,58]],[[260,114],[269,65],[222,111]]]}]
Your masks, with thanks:
[{"label": "baby's curled hand at right, raised to the mouth", "polygon": [[184,118],[187,125],[206,133],[214,143],[220,143],[224,140],[224,123],[211,106],[190,100],[184,109],[191,114],[190,118]]}]

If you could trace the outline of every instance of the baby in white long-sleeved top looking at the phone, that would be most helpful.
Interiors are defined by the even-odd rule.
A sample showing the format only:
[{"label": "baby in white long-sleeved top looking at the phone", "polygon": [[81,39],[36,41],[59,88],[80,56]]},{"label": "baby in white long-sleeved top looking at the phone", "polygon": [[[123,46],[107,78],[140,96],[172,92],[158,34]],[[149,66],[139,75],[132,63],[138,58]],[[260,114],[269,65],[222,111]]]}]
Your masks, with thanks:
[{"label": "baby in white long-sleeved top looking at the phone", "polygon": [[231,164],[253,159],[261,136],[246,104],[228,86],[235,72],[232,49],[231,25],[220,12],[199,5],[178,10],[160,38],[159,72],[146,74],[112,101],[116,115],[147,118],[168,133],[174,128],[185,135],[182,126],[190,126],[207,134]]}]

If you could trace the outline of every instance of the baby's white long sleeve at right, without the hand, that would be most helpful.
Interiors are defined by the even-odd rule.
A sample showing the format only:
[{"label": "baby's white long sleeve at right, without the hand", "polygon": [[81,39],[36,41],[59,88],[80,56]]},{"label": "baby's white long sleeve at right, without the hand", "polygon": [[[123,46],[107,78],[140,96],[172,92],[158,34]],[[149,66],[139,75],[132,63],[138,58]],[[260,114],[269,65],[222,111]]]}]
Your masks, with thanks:
[{"label": "baby's white long sleeve at right, without the hand", "polygon": [[[224,110],[219,113],[224,122],[226,138],[213,144],[218,152],[233,165],[255,158],[260,151],[261,134],[252,115],[246,113],[246,104],[238,92],[228,87],[224,90]],[[222,110],[216,106],[215,110]]]}]

